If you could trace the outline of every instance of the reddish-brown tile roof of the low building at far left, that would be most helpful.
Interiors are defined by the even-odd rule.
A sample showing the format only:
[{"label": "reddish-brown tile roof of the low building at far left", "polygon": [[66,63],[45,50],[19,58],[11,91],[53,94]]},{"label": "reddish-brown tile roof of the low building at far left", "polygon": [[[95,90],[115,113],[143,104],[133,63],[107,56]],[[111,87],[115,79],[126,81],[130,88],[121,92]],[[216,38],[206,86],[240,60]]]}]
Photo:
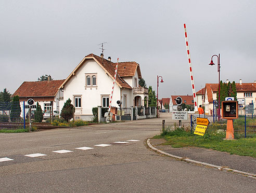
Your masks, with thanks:
[{"label": "reddish-brown tile roof of the low building at far left", "polygon": [[12,95],[23,97],[55,96],[65,80],[24,81]]}]

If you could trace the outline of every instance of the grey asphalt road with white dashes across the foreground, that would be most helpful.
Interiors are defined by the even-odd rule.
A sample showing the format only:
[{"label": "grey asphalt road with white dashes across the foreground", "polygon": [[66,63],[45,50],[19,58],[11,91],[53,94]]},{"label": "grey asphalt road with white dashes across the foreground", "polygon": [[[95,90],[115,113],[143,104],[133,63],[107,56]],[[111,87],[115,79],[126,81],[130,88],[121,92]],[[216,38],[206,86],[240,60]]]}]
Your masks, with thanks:
[{"label": "grey asphalt road with white dashes across the foreground", "polygon": [[[252,178],[176,161],[147,149],[145,139],[160,133],[161,122],[162,118],[0,133],[0,161],[12,159],[0,162],[0,192],[255,191]],[[110,146],[95,146],[100,144]],[[81,147],[93,149],[76,149]],[[53,152],[58,150],[70,152]],[[44,156],[25,156],[30,154]]]}]

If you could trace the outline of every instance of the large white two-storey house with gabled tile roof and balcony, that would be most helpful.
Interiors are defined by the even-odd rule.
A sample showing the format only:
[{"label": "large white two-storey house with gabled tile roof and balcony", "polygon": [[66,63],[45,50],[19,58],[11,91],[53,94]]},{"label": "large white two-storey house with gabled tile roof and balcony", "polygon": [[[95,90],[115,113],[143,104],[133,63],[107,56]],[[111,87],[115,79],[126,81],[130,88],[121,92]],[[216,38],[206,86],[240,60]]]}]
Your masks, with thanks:
[{"label": "large white two-storey house with gabled tile roof and balcony", "polygon": [[[91,120],[93,107],[109,107],[116,64],[110,57],[107,60],[88,54],[60,85],[63,90],[60,108],[71,99],[74,118]],[[118,100],[122,101],[122,107],[144,106],[144,100],[148,102],[148,89],[138,86],[139,78],[142,74],[138,63],[120,62],[111,106],[118,107]]]}]

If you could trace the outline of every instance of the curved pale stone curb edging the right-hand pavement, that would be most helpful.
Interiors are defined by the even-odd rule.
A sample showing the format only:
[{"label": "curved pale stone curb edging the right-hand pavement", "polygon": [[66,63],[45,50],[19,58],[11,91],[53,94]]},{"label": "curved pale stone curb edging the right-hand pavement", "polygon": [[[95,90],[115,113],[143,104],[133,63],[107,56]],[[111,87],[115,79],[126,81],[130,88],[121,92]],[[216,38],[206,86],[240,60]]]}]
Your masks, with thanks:
[{"label": "curved pale stone curb edging the right-hand pavement", "polygon": [[196,163],[196,164],[200,164],[202,166],[207,166],[207,167],[211,167],[211,168],[215,168],[215,169],[218,169],[218,170],[224,170],[224,171],[227,171],[227,172],[234,172],[234,173],[238,173],[238,174],[242,174],[242,175],[245,175],[247,177],[251,177],[251,178],[254,178],[256,179],[256,174],[252,174],[252,173],[248,173],[248,172],[243,172],[243,171],[239,171],[239,170],[234,170],[234,169],[231,169],[231,168],[225,168],[225,167],[222,167],[222,166],[216,166],[214,164],[211,164],[211,163],[206,163],[206,162],[201,162],[201,161],[196,161],[196,160],[193,160],[193,159],[188,159],[188,158],[182,158],[180,156],[175,156],[175,155],[172,155],[172,154],[168,154],[160,149],[157,149],[156,147],[153,147],[151,144],[150,144],[150,139],[147,139],[147,145],[159,152],[160,154],[163,154],[165,156],[169,156],[169,157],[172,157],[172,158],[175,158],[175,159],[178,159],[180,161],[186,161],[188,163]]}]

